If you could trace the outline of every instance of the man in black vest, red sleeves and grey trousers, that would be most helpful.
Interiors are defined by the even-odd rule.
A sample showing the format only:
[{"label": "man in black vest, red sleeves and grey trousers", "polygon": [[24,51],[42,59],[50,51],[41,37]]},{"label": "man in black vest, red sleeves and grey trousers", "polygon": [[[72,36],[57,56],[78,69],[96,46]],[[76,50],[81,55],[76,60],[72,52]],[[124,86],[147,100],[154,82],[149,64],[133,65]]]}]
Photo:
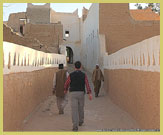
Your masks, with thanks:
[{"label": "man in black vest, red sleeves and grey trousers", "polygon": [[91,89],[88,83],[87,75],[81,71],[81,62],[75,62],[75,71],[70,73],[65,83],[65,93],[68,88],[71,95],[71,111],[73,131],[78,131],[78,126],[84,123],[84,94],[85,85],[87,87],[87,94],[89,99],[92,100]]}]

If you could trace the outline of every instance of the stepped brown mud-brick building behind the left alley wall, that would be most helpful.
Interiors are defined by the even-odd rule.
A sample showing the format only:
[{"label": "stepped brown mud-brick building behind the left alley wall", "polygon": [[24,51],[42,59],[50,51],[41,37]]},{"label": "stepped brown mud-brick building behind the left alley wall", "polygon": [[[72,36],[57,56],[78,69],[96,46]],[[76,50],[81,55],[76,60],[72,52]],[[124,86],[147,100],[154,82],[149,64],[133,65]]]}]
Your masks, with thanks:
[{"label": "stepped brown mud-brick building behind the left alley wall", "polygon": [[[58,53],[59,45],[63,41],[63,25],[61,22],[50,22],[50,10],[50,4],[35,6],[28,3],[26,12],[10,14],[7,25],[24,39],[40,42],[40,46],[32,48]],[[4,41],[12,42],[12,39],[4,35]]]}]

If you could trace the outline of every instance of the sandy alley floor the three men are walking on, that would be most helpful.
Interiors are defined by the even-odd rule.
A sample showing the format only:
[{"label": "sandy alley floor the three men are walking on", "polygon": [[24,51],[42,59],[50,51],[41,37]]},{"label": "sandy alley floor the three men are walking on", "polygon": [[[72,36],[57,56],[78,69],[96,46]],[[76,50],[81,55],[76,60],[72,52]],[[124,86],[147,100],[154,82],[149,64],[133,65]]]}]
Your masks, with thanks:
[{"label": "sandy alley floor the three men are walking on", "polygon": [[[68,71],[73,71],[73,65],[69,65]],[[87,72],[91,89],[91,74]],[[94,95],[94,92],[93,92]],[[64,115],[58,114],[56,97],[49,96],[35,111],[24,121],[23,131],[71,131],[71,107],[70,100],[65,108]],[[102,131],[111,129],[135,129],[136,121],[125,111],[109,100],[103,88],[98,98],[93,96],[89,101],[85,96],[85,122],[79,127],[79,131]]]}]

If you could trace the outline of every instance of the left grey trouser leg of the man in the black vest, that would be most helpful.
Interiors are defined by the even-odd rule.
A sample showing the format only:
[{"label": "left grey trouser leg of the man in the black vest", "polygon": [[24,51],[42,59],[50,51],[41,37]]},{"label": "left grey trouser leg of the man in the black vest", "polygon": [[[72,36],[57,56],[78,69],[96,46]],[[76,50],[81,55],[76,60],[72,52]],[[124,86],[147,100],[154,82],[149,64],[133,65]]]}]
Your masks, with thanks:
[{"label": "left grey trouser leg of the man in the black vest", "polygon": [[78,130],[79,124],[79,112],[78,112],[78,93],[71,92],[71,112],[72,112],[72,123],[73,130]]}]

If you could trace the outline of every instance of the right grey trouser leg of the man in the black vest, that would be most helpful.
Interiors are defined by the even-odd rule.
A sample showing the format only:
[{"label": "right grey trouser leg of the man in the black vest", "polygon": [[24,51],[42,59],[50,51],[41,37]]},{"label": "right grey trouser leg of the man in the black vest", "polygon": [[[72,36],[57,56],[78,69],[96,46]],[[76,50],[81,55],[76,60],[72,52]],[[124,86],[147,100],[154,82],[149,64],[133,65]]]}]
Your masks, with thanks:
[{"label": "right grey trouser leg of the man in the black vest", "polygon": [[79,97],[79,126],[84,123],[84,92],[80,92]]}]

